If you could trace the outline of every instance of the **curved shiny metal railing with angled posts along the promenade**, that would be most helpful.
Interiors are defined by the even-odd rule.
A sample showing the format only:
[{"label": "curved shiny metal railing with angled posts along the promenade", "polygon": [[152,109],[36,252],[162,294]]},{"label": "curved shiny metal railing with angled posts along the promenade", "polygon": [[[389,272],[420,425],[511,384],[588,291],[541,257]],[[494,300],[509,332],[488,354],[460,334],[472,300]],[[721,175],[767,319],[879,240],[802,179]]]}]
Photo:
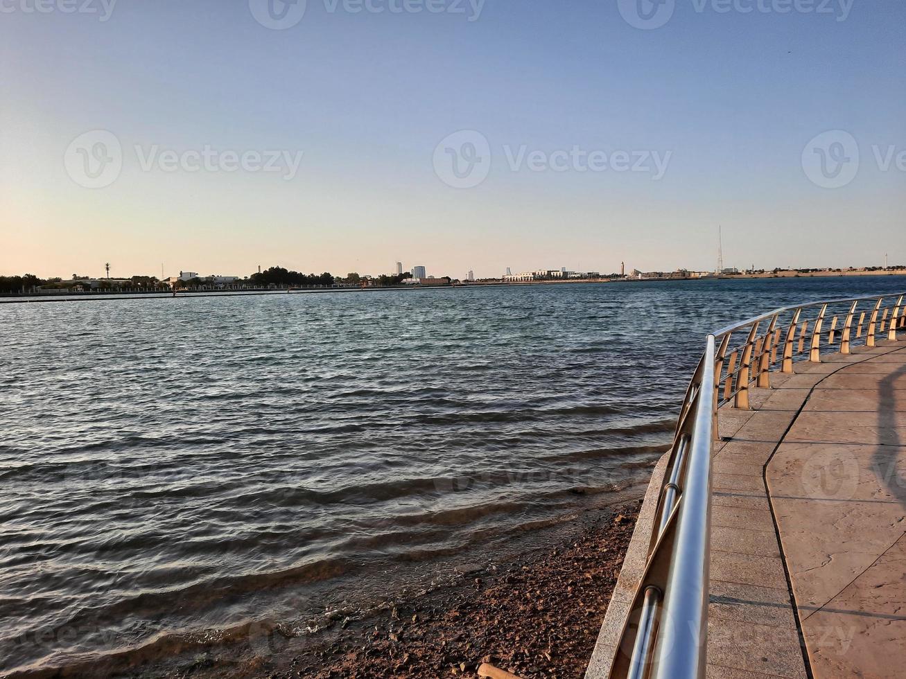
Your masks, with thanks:
[{"label": "curved shiny metal railing with angled posts along the promenade", "polygon": [[[822,349],[897,339],[906,293],[812,301],[768,311],[708,335],[670,448],[647,563],[617,644],[612,679],[693,679],[707,665],[711,456],[718,407],[749,407],[770,373],[821,361]],[[842,321],[842,323],[841,323]],[[839,326],[839,327],[838,327]],[[745,339],[736,343],[734,336]]]}]

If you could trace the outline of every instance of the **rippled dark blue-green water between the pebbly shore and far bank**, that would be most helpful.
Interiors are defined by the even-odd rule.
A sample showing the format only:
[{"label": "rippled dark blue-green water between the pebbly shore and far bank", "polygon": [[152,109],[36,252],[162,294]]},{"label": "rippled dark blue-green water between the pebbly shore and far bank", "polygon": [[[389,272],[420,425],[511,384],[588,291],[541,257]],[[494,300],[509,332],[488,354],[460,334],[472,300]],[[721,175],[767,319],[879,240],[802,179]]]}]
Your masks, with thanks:
[{"label": "rippled dark blue-green water between the pebbly shore and far bank", "polygon": [[0,671],[261,620],[304,633],[503,549],[644,483],[708,330],[903,287],[0,304]]}]

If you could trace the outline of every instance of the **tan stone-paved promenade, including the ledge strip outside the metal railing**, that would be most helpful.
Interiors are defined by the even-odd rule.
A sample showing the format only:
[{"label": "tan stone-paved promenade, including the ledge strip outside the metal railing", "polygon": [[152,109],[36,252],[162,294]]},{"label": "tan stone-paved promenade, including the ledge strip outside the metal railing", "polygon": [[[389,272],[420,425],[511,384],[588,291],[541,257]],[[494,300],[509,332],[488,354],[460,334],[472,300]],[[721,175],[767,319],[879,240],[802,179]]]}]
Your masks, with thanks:
[{"label": "tan stone-paved promenade, including the ledge strip outside the metal railing", "polygon": [[[882,345],[772,373],[753,410],[720,410],[708,679],[906,676],[906,346]],[[590,678],[641,577],[650,503]]]}]

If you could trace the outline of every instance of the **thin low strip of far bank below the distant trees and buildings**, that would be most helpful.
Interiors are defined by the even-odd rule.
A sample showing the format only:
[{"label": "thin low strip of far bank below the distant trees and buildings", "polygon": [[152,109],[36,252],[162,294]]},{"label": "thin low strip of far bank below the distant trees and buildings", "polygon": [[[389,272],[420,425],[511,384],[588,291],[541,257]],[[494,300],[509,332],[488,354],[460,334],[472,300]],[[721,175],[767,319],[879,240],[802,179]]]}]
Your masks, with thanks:
[{"label": "thin low strip of far bank below the distant trees and buildings", "polygon": [[700,282],[700,281],[736,281],[768,278],[843,278],[867,276],[906,276],[903,271],[840,271],[840,272],[808,272],[780,271],[766,273],[729,273],[719,276],[699,278],[660,277],[660,278],[576,278],[565,281],[520,281],[520,282],[468,282],[452,285],[400,285],[394,287],[373,288],[311,288],[300,290],[205,290],[198,292],[180,291],[175,295],[172,292],[59,292],[26,295],[0,295],[0,304],[25,304],[30,302],[46,301],[111,301],[111,300],[141,300],[141,299],[188,299],[195,297],[246,297],[251,295],[283,295],[283,294],[323,294],[325,292],[415,292],[419,290],[462,290],[468,288],[521,288],[529,285],[576,285],[576,284],[610,284],[610,283],[658,283],[658,282]]}]

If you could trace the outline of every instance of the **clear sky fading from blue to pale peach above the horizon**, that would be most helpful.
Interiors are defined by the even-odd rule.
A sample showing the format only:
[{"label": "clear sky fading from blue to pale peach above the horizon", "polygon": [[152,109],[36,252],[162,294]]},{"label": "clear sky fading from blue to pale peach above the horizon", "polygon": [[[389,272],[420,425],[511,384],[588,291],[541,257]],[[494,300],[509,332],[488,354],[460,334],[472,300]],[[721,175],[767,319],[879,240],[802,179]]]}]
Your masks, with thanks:
[{"label": "clear sky fading from blue to pale peach above the horizon", "polygon": [[0,0],[0,274],[906,263],[900,0]]}]

